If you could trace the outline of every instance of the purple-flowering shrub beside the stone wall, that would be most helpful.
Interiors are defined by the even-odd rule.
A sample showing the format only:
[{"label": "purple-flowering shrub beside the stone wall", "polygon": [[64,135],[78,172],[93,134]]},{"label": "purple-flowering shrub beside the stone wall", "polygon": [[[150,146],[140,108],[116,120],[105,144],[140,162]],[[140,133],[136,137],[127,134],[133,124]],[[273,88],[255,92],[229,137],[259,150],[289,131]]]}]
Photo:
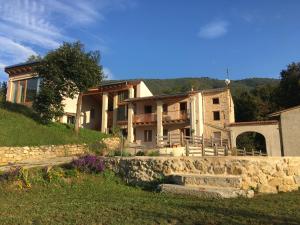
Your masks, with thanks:
[{"label": "purple-flowering shrub beside the stone wall", "polygon": [[85,155],[73,160],[72,167],[81,172],[101,173],[105,169],[104,161],[96,155]]}]

